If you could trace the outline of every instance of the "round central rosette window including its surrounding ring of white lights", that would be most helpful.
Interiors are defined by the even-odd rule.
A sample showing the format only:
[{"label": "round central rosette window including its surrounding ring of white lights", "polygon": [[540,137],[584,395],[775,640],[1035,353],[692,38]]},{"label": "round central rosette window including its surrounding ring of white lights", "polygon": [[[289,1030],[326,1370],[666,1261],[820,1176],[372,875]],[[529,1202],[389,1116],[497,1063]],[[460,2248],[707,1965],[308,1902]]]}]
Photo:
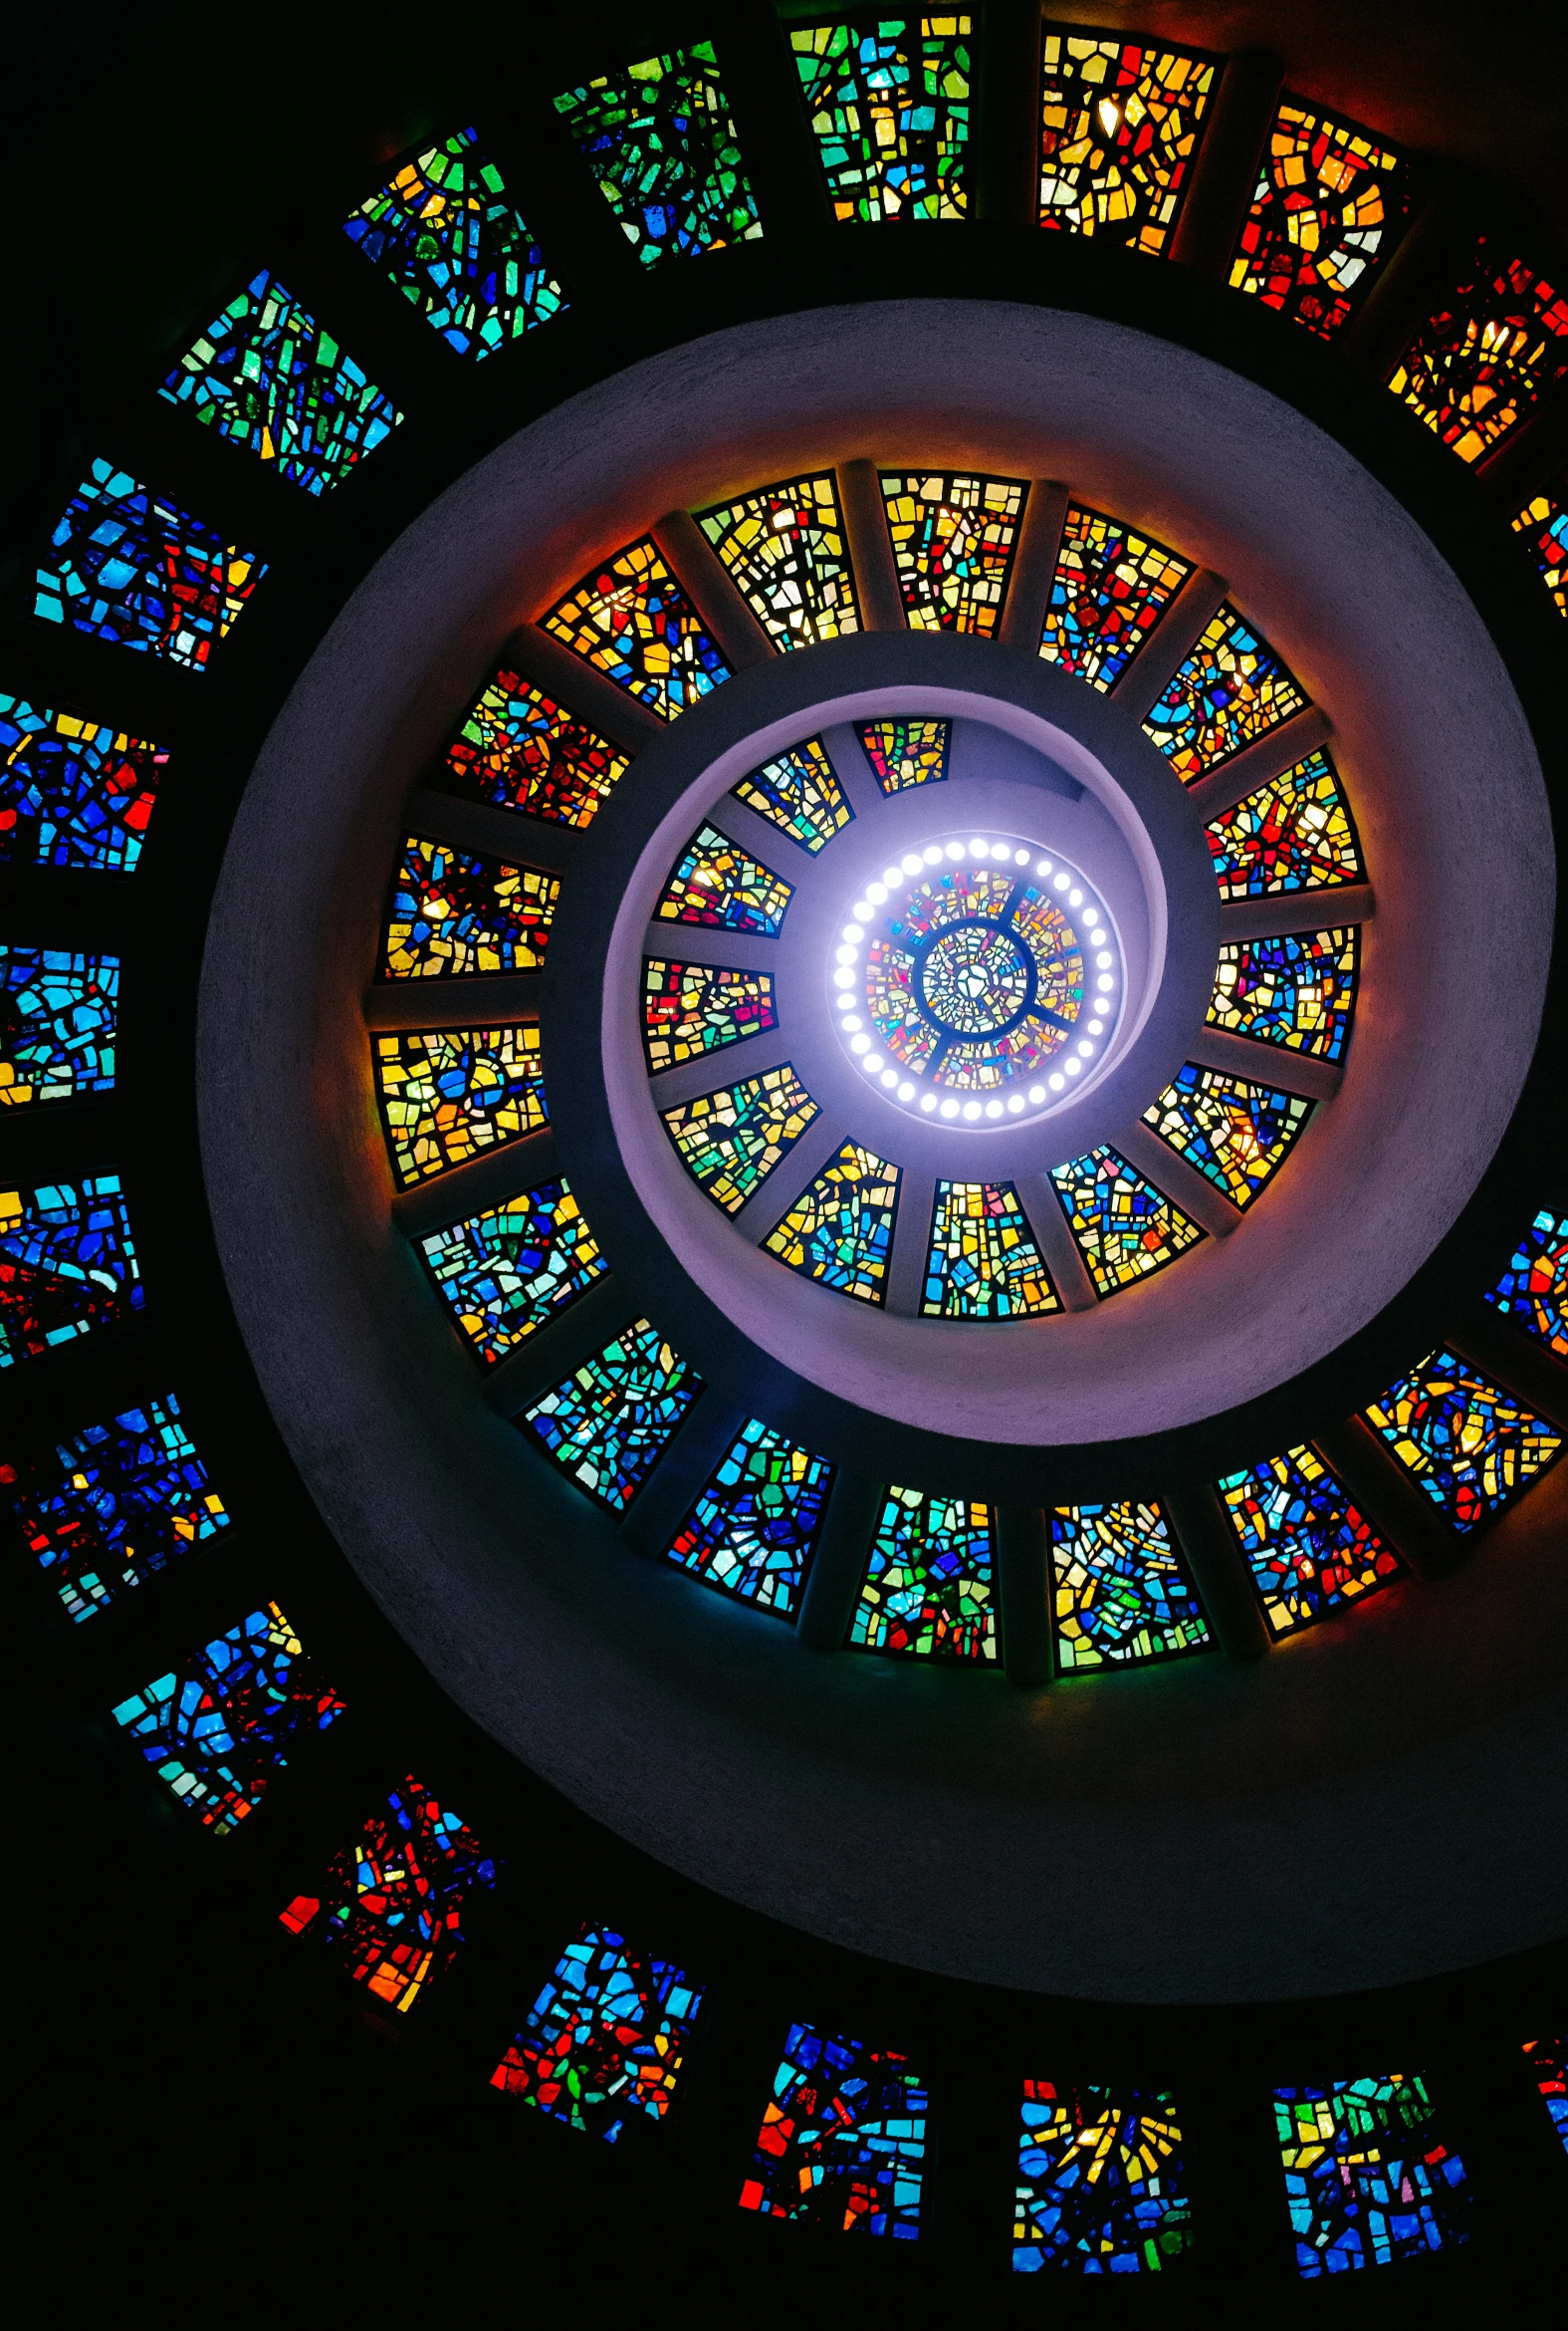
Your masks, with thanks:
[{"label": "round central rosette window including its surrounding ring of white lights", "polygon": [[839,1033],[867,1077],[944,1119],[1048,1107],[1104,1051],[1121,949],[1083,874],[1016,839],[909,851],[834,949]]}]

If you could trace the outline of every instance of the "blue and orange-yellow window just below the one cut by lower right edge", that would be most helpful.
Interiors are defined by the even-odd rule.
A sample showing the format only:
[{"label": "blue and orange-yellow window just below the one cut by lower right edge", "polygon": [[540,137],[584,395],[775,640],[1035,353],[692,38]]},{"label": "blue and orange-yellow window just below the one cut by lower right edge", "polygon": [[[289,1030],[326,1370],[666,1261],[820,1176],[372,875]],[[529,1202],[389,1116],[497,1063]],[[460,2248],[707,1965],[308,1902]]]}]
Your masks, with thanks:
[{"label": "blue and orange-yellow window just below the one cut by lower right edge", "polygon": [[1365,1410],[1449,1529],[1477,1529],[1552,1464],[1563,1436],[1468,1361],[1431,1352]]}]

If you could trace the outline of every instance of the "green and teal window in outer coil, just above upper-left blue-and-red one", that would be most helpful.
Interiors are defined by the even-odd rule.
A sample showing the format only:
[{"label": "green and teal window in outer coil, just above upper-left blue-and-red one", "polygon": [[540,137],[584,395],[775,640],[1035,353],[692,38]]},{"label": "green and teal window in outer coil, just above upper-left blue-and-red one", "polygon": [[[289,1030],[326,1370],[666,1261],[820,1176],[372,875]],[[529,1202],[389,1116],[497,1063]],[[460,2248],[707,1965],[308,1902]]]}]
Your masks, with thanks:
[{"label": "green and teal window in outer coil, just above upper-left blue-and-red one", "polygon": [[322,494],[403,420],[268,268],[252,275],[158,389],[231,445]]}]

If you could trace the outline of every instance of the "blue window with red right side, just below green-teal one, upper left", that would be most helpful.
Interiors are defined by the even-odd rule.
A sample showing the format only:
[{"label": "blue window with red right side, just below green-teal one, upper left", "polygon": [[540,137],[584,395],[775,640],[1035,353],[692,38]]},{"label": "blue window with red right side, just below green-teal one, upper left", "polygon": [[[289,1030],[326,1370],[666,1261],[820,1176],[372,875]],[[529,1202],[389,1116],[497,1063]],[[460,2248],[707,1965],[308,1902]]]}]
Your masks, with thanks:
[{"label": "blue window with red right side, just below green-teal one, upper left", "polygon": [[93,462],[49,538],[33,613],[205,671],[263,573],[252,550]]}]

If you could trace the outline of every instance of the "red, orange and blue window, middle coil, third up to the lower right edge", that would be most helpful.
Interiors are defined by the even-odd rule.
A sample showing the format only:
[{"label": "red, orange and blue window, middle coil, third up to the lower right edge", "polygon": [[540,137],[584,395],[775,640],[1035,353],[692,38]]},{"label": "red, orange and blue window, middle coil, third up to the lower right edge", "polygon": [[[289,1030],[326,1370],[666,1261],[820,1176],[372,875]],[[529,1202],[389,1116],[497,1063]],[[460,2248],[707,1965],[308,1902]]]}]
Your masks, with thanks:
[{"label": "red, orange and blue window, middle coil, third up to the lower right edge", "polygon": [[1314,1448],[1293,1448],[1219,1485],[1272,1634],[1375,1594],[1398,1557]]}]

